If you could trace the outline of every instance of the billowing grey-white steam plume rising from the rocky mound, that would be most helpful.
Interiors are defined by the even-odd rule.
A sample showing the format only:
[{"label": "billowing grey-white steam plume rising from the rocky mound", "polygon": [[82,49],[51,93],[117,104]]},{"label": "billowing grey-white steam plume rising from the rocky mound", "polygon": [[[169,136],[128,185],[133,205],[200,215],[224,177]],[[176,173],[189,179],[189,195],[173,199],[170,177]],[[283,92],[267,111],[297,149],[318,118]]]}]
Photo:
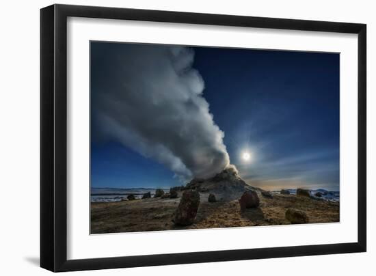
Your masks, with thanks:
[{"label": "billowing grey-white steam plume rising from the rocky mound", "polygon": [[106,45],[92,44],[94,138],[119,141],[183,179],[208,178],[226,168],[224,133],[202,96],[193,50]]}]

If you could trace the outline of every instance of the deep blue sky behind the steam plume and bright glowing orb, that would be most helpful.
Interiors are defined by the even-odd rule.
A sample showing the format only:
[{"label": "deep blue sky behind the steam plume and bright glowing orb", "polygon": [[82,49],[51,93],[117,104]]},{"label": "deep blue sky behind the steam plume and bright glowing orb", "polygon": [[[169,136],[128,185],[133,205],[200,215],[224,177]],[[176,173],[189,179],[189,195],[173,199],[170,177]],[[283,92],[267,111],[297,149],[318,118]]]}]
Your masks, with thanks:
[{"label": "deep blue sky behind the steam plume and bright glowing orb", "polygon": [[[243,180],[263,189],[338,191],[339,54],[191,49],[192,67],[204,81],[202,96],[209,102],[213,121],[224,132],[230,163]],[[92,42],[92,94],[97,89],[112,89],[114,80],[122,79],[117,67],[106,60],[107,55],[121,59],[126,51],[127,44]],[[146,58],[137,53],[140,59]],[[131,62],[122,66],[132,70]],[[154,158],[99,131],[95,109],[101,103],[95,102],[92,187],[167,188],[185,184]],[[142,112],[142,107],[139,110]],[[242,160],[243,152],[250,153],[250,162]]]}]

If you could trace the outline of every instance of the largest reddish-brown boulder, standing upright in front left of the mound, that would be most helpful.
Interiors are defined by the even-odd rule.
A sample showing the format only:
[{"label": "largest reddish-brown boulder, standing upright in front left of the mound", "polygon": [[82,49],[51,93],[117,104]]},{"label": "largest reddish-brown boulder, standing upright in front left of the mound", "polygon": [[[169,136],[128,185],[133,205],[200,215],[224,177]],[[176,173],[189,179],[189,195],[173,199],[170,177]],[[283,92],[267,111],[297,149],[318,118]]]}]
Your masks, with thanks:
[{"label": "largest reddish-brown boulder, standing upright in front left of the mound", "polygon": [[176,209],[174,223],[176,225],[191,225],[196,218],[199,205],[200,193],[198,191],[184,191]]}]

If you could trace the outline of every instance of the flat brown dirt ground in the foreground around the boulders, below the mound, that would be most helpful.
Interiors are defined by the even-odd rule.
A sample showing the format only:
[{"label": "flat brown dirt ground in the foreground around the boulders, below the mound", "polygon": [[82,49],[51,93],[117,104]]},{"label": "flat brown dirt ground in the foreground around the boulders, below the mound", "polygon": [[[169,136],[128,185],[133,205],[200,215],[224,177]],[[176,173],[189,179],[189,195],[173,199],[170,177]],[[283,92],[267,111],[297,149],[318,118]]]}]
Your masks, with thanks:
[{"label": "flat brown dirt ground in the foreground around the boulders, below the mound", "polygon": [[339,203],[296,195],[260,197],[260,206],[240,212],[237,199],[230,202],[207,201],[209,193],[200,193],[200,207],[195,222],[177,227],[172,222],[180,202],[176,199],[136,199],[123,202],[91,204],[91,233],[144,232],[176,229],[204,229],[257,225],[290,224],[284,218],[287,208],[303,210],[310,223],[339,222]]}]

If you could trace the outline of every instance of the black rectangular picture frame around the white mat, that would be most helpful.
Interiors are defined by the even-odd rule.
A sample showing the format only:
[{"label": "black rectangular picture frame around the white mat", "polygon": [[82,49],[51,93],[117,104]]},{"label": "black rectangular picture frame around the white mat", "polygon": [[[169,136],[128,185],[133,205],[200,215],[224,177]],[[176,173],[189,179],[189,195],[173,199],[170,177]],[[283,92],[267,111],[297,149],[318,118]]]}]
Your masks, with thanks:
[{"label": "black rectangular picture frame around the white mat", "polygon": [[[68,16],[358,34],[358,242],[67,260]],[[50,271],[365,252],[366,25],[77,5],[50,5],[42,8],[40,10],[40,149],[40,266]]]}]

